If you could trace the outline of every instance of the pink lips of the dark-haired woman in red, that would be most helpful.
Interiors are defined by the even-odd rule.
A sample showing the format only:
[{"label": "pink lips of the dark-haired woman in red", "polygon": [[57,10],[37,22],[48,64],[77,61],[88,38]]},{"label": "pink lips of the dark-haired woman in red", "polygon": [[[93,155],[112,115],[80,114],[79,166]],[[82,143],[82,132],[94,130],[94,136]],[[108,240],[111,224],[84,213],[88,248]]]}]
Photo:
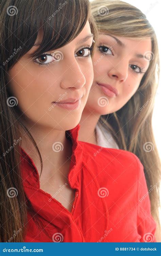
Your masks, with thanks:
[{"label": "pink lips of the dark-haired woman in red", "polygon": [[53,102],[53,103],[67,110],[75,110],[81,105],[81,98],[80,97],[77,99],[69,98],[61,102]]}]

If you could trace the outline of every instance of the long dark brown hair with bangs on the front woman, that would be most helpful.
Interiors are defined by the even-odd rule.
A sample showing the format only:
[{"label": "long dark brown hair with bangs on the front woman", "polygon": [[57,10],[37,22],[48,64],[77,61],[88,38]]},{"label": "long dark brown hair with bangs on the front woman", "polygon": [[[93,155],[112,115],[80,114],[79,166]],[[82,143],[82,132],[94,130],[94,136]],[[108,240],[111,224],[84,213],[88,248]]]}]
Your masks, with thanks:
[{"label": "long dark brown hair with bangs on the front woman", "polygon": [[[97,27],[88,0],[68,0],[63,4],[60,0],[5,0],[1,1],[0,20],[0,241],[23,242],[27,214],[33,216],[37,225],[41,224],[22,185],[21,143],[17,143],[21,139],[20,127],[37,149],[41,171],[42,158],[34,138],[20,121],[18,108],[7,104],[12,96],[7,86],[8,70],[33,47],[39,32],[43,39],[32,57],[65,46],[78,36],[87,21],[96,39]],[[16,196],[8,196],[10,191],[16,191]],[[15,231],[20,232],[14,236]]]}]

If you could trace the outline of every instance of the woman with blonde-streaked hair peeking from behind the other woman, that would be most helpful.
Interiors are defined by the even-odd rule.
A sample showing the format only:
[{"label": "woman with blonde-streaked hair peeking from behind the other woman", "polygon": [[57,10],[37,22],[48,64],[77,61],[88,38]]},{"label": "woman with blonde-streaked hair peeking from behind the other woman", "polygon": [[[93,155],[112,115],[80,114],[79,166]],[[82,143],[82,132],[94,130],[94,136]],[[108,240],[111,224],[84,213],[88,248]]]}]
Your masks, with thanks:
[{"label": "woman with blonde-streaked hair peeking from behind the other woman", "polygon": [[99,39],[79,140],[139,157],[148,188],[145,197],[150,198],[159,237],[160,159],[152,128],[159,79],[156,34],[135,6],[107,0],[91,4]]}]

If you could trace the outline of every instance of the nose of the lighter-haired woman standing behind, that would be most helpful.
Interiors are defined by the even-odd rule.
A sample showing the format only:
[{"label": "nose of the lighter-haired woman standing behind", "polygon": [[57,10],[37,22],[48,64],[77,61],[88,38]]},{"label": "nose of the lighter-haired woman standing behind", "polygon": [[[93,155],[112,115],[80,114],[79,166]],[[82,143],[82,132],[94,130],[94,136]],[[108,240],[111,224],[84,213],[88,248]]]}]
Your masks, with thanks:
[{"label": "nose of the lighter-haired woman standing behind", "polygon": [[109,70],[108,75],[112,79],[124,82],[128,77],[128,67],[128,63],[120,61],[119,64],[115,65],[112,69]]}]

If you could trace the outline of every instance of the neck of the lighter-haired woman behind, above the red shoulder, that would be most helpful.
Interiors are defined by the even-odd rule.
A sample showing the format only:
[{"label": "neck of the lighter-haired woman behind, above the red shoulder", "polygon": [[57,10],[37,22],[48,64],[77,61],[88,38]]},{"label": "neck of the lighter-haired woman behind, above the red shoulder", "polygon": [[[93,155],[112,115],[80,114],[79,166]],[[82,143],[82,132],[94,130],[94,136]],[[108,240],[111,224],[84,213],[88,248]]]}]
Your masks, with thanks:
[{"label": "neck of the lighter-haired woman behind, above the red shoulder", "polygon": [[100,114],[91,113],[88,110],[84,109],[81,121],[80,121],[80,130],[79,130],[79,141],[85,141],[97,145],[95,126],[99,121]]}]

